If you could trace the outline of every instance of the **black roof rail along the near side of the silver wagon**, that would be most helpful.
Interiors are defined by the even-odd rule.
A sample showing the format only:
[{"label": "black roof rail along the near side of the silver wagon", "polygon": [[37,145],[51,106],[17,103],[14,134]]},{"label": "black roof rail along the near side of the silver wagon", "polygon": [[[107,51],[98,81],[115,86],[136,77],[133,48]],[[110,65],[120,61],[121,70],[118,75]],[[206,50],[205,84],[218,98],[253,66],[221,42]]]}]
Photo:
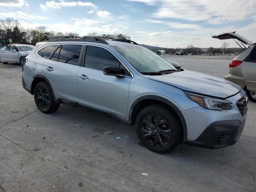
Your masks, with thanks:
[{"label": "black roof rail along the near side of the silver wagon", "polygon": [[82,36],[82,37],[76,37],[76,38],[71,38],[69,36],[50,36],[45,40],[45,42],[54,42],[54,41],[84,41],[84,42],[108,44],[106,40],[98,37],[92,37],[92,36]]}]

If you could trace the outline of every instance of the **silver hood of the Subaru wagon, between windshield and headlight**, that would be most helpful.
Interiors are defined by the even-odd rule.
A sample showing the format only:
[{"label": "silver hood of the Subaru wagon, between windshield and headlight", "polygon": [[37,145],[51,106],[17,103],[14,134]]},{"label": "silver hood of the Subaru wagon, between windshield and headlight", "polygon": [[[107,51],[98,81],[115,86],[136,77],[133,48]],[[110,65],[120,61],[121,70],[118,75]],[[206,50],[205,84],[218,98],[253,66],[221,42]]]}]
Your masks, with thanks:
[{"label": "silver hood of the Subaru wagon, between windshield and headlight", "polygon": [[218,98],[232,96],[241,90],[240,86],[230,81],[189,70],[166,75],[148,76],[148,78],[185,91]]}]

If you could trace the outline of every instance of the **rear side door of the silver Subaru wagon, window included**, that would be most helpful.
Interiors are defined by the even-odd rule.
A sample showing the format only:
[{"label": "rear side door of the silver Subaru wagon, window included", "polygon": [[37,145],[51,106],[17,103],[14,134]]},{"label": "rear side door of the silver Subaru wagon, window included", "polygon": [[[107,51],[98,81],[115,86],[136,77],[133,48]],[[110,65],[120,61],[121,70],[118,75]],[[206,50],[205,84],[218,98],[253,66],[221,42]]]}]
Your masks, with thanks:
[{"label": "rear side door of the silver Subaru wagon, window included", "polygon": [[57,99],[78,102],[77,73],[80,68],[82,46],[81,44],[56,46],[50,59],[44,61],[44,75],[50,81]]}]

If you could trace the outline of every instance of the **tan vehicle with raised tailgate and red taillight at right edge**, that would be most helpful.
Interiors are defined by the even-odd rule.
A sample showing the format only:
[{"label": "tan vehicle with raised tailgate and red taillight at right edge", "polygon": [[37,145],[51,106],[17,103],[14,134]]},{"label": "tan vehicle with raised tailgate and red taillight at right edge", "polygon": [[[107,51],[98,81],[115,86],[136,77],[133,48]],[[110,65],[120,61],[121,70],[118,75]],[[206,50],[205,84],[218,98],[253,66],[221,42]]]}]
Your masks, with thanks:
[{"label": "tan vehicle with raised tailgate and red taillight at right edge", "polygon": [[229,74],[225,76],[225,79],[238,84],[242,89],[246,90],[250,100],[256,102],[256,44],[236,32],[224,33],[212,37],[221,40],[236,39],[243,44],[249,45],[248,48],[241,46],[244,51],[230,62]]}]

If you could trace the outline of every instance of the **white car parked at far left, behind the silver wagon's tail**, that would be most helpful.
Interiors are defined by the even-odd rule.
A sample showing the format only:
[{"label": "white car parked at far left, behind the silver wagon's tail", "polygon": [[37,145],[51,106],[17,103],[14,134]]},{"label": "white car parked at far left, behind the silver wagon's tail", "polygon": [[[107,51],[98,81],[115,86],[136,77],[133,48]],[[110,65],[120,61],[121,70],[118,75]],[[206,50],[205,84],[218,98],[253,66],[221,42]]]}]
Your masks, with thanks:
[{"label": "white car parked at far left, behind the silver wagon's tail", "polygon": [[21,56],[27,56],[35,47],[32,45],[15,44],[4,46],[0,49],[0,61],[3,64],[8,62],[20,63]]}]

